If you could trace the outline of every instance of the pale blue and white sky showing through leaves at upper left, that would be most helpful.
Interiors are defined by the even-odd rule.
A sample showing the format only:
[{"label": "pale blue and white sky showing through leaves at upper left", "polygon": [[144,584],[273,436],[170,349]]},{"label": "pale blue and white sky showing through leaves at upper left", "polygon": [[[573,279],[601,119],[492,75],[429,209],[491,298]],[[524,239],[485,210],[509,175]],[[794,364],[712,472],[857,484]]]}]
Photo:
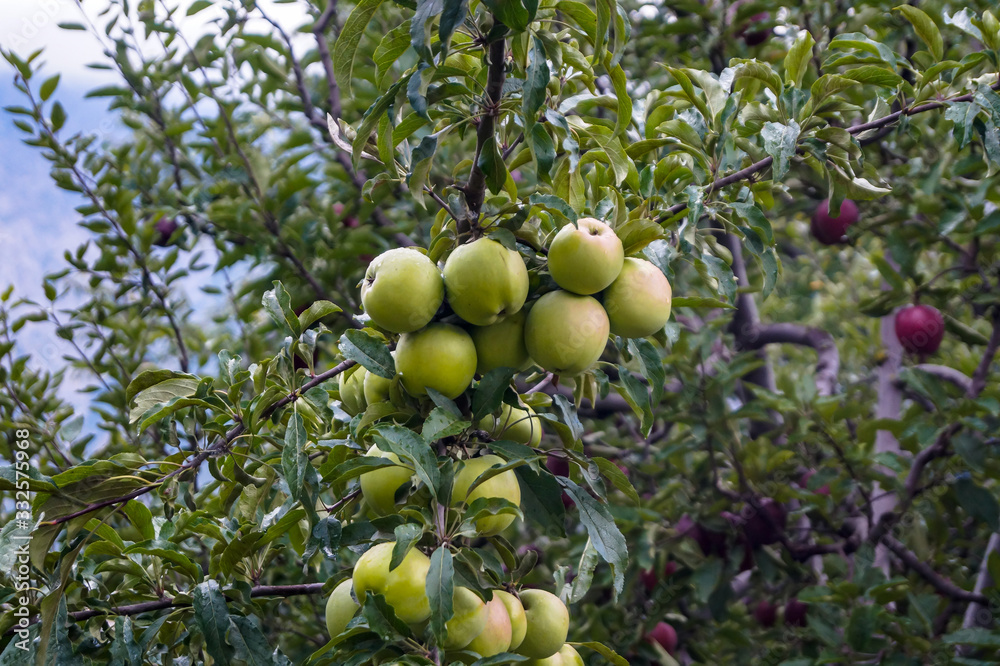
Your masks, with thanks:
[{"label": "pale blue and white sky showing through leaves at upper left", "polygon": [[[225,5],[232,0],[216,0]],[[180,4],[176,16],[184,16],[191,0]],[[134,3],[135,4],[135,3]],[[259,0],[268,14],[287,31],[305,20],[302,6],[275,4]],[[68,112],[64,134],[75,132],[97,134],[100,141],[113,141],[124,136],[113,113],[107,110],[106,99],[85,99],[88,90],[113,81],[104,70],[88,68],[87,64],[103,61],[103,49],[89,32],[63,30],[59,23],[83,22],[82,12],[93,19],[107,6],[107,0],[0,0],[0,46],[26,57],[44,49],[44,62],[37,85],[48,76],[61,75],[55,93]],[[192,43],[204,32],[205,22],[219,15],[208,9],[195,17],[184,19],[182,30]],[[259,21],[255,31],[273,30]],[[37,61],[36,61],[37,62]],[[23,105],[24,98],[14,87],[14,69],[0,60],[0,107]],[[49,164],[37,148],[22,143],[23,133],[13,124],[14,116],[0,110],[0,291],[10,284],[15,295],[43,299],[42,279],[46,274],[66,267],[63,254],[75,249],[88,237],[78,222],[74,208],[82,203],[79,195],[65,192],[49,178]],[[195,285],[187,292],[201,297]],[[70,350],[57,338],[51,327],[35,326],[30,336],[18,340],[18,350],[32,355],[34,367],[55,370],[64,365],[62,356]],[[84,376],[70,376],[64,397],[77,407],[85,407],[87,398],[77,393],[92,381]]]}]

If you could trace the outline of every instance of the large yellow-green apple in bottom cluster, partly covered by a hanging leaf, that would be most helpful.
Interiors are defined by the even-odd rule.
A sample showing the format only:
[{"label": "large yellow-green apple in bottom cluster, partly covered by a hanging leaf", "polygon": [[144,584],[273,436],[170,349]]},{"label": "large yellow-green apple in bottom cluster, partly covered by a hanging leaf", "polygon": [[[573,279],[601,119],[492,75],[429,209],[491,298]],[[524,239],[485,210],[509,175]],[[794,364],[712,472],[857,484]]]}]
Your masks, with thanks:
[{"label": "large yellow-green apple in bottom cluster, partly covered by a hanging leaf", "polygon": [[400,565],[389,571],[393,545],[389,541],[372,546],[358,559],[354,565],[354,594],[361,604],[368,592],[381,594],[396,617],[407,624],[419,624],[431,616],[426,591],[431,561],[411,548]]}]

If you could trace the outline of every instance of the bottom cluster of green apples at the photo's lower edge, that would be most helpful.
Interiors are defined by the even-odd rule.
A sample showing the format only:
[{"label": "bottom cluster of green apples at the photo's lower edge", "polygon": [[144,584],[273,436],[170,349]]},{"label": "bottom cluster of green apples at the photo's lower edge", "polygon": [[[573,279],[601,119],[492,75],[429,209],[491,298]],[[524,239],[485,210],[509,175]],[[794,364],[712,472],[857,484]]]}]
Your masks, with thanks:
[{"label": "bottom cluster of green apples at the photo's lower edge", "polygon": [[[413,548],[390,570],[393,545],[380,543],[366,551],[353,576],[334,589],[326,604],[331,637],[347,628],[369,592],[382,595],[403,622],[418,629],[426,625],[431,615],[425,591],[430,559]],[[569,611],[559,597],[544,590],[491,592],[492,598],[483,601],[466,587],[455,588],[454,613],[445,624],[447,638],[439,646],[445,654],[461,651],[485,658],[516,652],[529,658],[521,662],[529,666],[583,666],[583,659],[566,643]],[[464,661],[458,655],[455,660]]]}]

